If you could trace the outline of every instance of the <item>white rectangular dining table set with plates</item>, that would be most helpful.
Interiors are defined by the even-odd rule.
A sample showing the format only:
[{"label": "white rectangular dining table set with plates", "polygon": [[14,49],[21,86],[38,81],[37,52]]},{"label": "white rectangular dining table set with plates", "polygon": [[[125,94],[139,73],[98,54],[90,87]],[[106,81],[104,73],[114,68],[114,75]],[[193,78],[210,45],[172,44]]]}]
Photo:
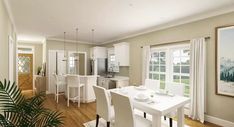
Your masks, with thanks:
[{"label": "white rectangular dining table set with plates", "polygon": [[[177,127],[184,127],[184,106],[190,102],[188,97],[161,95],[153,90],[139,89],[136,86],[109,91],[128,96],[134,108],[152,115],[152,127],[161,127],[161,117],[174,111],[177,111]],[[138,94],[145,94],[149,99],[147,101],[136,100],[135,97]]]}]

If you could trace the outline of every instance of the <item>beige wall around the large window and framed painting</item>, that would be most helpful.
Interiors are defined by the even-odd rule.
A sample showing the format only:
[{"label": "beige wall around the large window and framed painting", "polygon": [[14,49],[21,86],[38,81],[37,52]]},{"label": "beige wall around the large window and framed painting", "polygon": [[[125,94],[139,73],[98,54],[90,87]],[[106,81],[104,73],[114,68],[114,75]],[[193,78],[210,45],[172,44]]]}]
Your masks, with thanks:
[{"label": "beige wall around the large window and framed painting", "polygon": [[[130,67],[128,73],[131,84],[141,83],[141,46],[153,45],[196,37],[210,36],[207,40],[207,114],[234,122],[234,98],[215,94],[215,27],[234,25],[234,13],[228,13],[164,30],[151,32],[133,38],[120,40],[130,43]],[[111,46],[106,44],[105,46]]]}]

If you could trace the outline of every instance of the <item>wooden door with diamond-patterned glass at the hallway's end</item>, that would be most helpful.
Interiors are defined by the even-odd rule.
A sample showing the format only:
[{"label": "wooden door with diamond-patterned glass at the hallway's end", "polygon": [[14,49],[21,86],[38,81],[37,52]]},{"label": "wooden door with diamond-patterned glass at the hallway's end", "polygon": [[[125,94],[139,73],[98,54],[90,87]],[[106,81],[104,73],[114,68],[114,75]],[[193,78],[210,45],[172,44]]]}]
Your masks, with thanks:
[{"label": "wooden door with diamond-patterned glass at the hallway's end", "polygon": [[21,90],[33,90],[33,54],[18,54],[18,84]]}]

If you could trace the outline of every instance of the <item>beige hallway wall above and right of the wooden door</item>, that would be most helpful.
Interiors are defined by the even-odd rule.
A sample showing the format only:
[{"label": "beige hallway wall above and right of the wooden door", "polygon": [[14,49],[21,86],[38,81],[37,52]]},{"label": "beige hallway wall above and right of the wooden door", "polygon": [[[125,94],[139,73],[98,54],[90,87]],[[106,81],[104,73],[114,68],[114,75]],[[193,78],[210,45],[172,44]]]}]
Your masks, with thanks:
[{"label": "beige hallway wall above and right of the wooden door", "polygon": [[43,44],[38,44],[38,43],[24,43],[20,42],[18,43],[18,46],[30,46],[34,48],[34,75],[37,74],[37,68],[42,66],[43,63]]}]

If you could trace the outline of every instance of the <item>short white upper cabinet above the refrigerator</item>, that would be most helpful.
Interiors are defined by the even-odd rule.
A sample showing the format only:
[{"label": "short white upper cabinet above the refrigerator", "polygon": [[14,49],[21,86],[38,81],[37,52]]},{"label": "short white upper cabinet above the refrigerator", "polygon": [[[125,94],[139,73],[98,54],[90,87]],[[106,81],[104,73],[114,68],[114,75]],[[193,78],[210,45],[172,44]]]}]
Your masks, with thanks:
[{"label": "short white upper cabinet above the refrigerator", "polygon": [[106,47],[93,47],[90,49],[90,58],[97,59],[97,58],[107,58],[107,49]]}]

